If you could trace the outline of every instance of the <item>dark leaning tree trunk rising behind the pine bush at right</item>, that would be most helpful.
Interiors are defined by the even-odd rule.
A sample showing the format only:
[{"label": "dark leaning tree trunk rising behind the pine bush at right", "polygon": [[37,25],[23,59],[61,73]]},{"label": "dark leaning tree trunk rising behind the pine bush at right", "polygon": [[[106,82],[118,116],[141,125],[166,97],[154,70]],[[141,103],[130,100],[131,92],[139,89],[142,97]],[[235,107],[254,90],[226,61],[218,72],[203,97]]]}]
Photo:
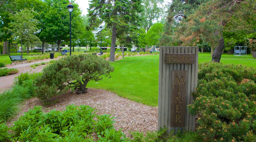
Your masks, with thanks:
[{"label": "dark leaning tree trunk rising behind the pine bush at right", "polygon": [[225,47],[225,44],[224,44],[224,39],[221,35],[221,38],[219,40],[219,45],[215,48],[213,54],[212,54],[212,59],[211,61],[214,61],[214,62],[220,62],[220,58],[221,58],[221,53],[223,51]]}]

